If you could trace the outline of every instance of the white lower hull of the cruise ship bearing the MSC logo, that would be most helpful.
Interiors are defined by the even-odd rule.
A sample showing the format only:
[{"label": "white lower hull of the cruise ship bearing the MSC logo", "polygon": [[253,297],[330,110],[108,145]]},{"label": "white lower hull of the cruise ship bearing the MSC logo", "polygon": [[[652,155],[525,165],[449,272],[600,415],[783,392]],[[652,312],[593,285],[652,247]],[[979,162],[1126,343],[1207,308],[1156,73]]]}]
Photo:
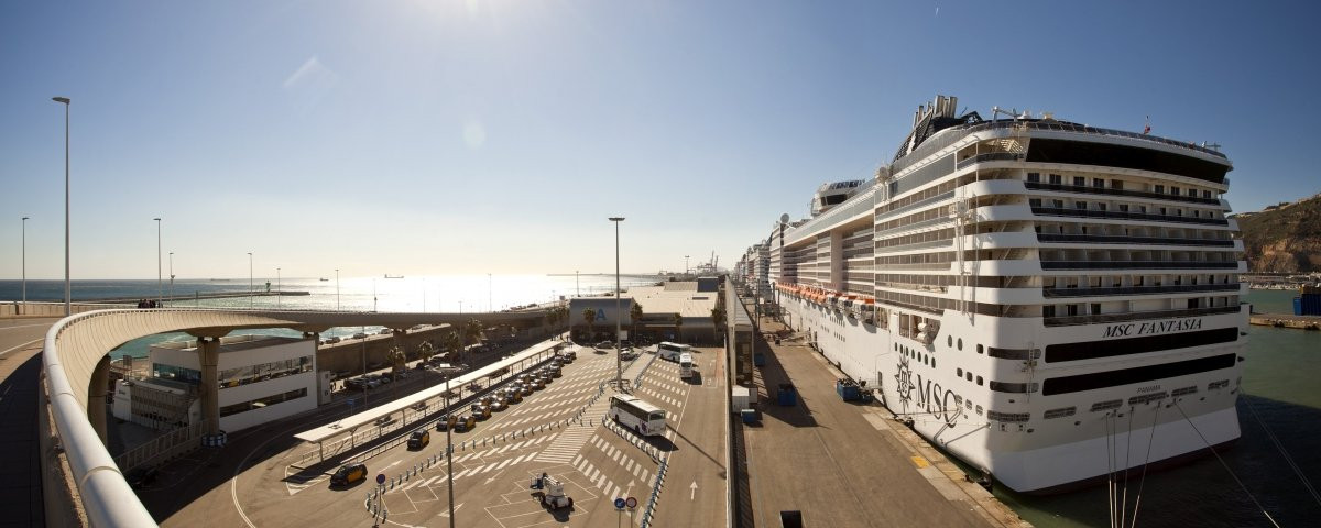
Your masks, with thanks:
[{"label": "white lower hull of the cruise ship bearing the MSC logo", "polygon": [[[880,387],[882,403],[898,418],[911,420],[918,434],[1018,492],[1070,488],[1104,479],[1107,474],[1122,473],[1124,469],[1140,470],[1148,463],[1157,465],[1203,451],[1207,446],[1232,442],[1239,437],[1234,408],[1240,375],[1238,362],[1227,370],[1164,379],[1155,384],[1139,383],[1059,396],[993,393],[984,385],[978,387],[975,381],[956,378],[955,364],[985,360],[985,355],[979,356],[972,350],[974,343],[1001,346],[1007,341],[1029,341],[1024,337],[1036,334],[1033,346],[1045,347],[1049,342],[1042,341],[1042,335],[1050,333],[1040,326],[1040,321],[1036,322],[1037,329],[1030,331],[1015,327],[1015,323],[1021,322],[1003,322],[984,315],[978,317],[972,326],[966,315],[947,312],[942,330],[934,339],[937,346],[927,347],[888,329],[848,317],[847,310],[835,310],[794,296],[781,294],[779,301],[790,326],[806,331],[822,355],[849,378],[865,380],[868,388]],[[1242,321],[1246,325],[1243,314],[1211,317]],[[1203,323],[1211,326],[1219,322],[1211,319]],[[1078,339],[1078,334],[1085,331],[1069,327],[1061,334],[1071,334]],[[963,339],[967,348],[941,350],[948,339]],[[1243,346],[1243,341],[1238,341],[1218,347],[1176,350],[1141,362],[1239,354]],[[905,355],[905,347],[927,355],[926,362]],[[933,348],[938,351],[930,354],[929,350]],[[1107,363],[1106,368],[1114,368],[1114,363]],[[1041,379],[1052,372],[1059,370],[1037,368],[1036,375]],[[1229,384],[1207,389],[1209,384],[1221,380],[1229,380]],[[1178,399],[1128,404],[1131,397],[1180,387],[1197,387],[1198,391]],[[1124,404],[1118,409],[1090,411],[1098,401],[1112,400],[1123,400]],[[1077,412],[1044,418],[1048,409],[1069,407],[1075,407]],[[992,409],[1025,413],[1029,418],[1025,422],[988,420]]]}]

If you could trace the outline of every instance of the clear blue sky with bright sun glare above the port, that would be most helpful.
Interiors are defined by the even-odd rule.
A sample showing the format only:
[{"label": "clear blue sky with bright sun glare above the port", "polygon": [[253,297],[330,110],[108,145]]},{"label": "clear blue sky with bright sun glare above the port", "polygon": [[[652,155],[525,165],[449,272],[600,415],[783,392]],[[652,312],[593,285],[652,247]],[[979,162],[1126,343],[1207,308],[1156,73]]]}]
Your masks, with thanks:
[{"label": "clear blue sky with bright sun glare above the port", "polygon": [[1321,190],[1309,3],[0,4],[0,277],[732,263],[935,94],[1214,141],[1238,211]]}]

